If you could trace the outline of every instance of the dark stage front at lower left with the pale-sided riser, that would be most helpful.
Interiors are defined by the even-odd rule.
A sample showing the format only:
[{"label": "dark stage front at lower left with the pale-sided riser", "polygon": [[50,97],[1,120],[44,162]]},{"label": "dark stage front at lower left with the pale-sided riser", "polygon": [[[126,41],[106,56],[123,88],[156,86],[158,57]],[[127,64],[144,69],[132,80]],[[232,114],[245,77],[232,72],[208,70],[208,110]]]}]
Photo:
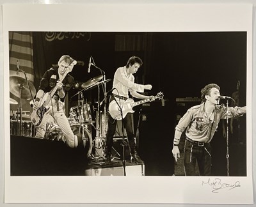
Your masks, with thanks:
[{"label": "dark stage front at lower left with the pale-sided riser", "polygon": [[[91,160],[83,148],[68,148],[61,141],[11,135],[12,176],[124,176],[122,160],[113,165]],[[145,166],[125,162],[126,176],[144,176]]]}]

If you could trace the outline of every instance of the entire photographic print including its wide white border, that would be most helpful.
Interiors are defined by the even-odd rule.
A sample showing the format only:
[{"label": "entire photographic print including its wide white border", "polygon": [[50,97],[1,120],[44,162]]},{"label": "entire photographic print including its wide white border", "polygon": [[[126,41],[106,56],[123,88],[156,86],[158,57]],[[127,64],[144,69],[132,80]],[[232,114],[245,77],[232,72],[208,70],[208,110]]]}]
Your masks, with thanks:
[{"label": "entire photographic print including its wide white border", "polygon": [[[31,5],[19,6],[29,10]],[[148,19],[127,18],[127,8],[113,17],[88,19],[92,11],[107,8],[90,4],[82,6],[90,8],[88,13],[77,14],[81,7],[61,5],[77,13],[49,22],[42,14],[56,6],[31,6],[24,17],[35,17],[31,27],[20,26],[19,17],[10,22],[13,6],[3,10],[6,201],[252,203],[250,5],[168,4],[164,9],[159,4],[166,16],[154,21],[155,15],[147,16],[150,6],[140,11]],[[118,8],[122,5],[109,6]],[[167,8],[186,15],[172,27],[172,18],[180,15]],[[186,22],[189,9],[200,11],[191,22],[195,27]],[[226,11],[236,11],[241,22],[236,24],[236,15],[221,19]],[[204,27],[196,22],[202,16],[213,22]],[[20,190],[26,183],[28,193],[22,195],[31,194],[35,184],[40,192],[58,189],[58,195],[23,197],[14,183]],[[64,198],[61,188],[70,183],[74,192]],[[172,199],[170,185],[218,200],[184,199],[182,193]],[[93,190],[102,196],[94,198]],[[147,190],[148,199],[138,194]],[[121,191],[136,196],[129,199]],[[244,200],[236,197],[242,192]],[[79,197],[83,194],[90,196]]]}]

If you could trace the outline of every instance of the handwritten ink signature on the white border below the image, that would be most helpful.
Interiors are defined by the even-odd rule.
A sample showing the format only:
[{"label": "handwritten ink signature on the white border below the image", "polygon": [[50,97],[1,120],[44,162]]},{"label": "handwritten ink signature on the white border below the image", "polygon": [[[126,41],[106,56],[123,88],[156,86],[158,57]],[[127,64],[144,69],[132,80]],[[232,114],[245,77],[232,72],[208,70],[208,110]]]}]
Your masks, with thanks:
[{"label": "handwritten ink signature on the white border below the image", "polygon": [[202,185],[210,185],[213,190],[212,192],[218,193],[222,189],[232,190],[234,188],[241,187],[240,182],[236,181],[235,183],[223,183],[220,178],[211,179],[209,178],[207,181],[202,181]]}]

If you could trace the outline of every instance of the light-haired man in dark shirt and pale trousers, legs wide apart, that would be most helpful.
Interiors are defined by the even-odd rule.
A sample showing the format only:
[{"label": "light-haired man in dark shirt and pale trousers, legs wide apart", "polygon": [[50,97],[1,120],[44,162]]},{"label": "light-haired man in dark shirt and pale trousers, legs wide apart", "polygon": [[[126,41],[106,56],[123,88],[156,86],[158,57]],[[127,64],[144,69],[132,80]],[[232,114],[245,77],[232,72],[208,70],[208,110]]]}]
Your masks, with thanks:
[{"label": "light-haired man in dark shirt and pale trousers, legs wide apart", "polygon": [[74,77],[67,74],[62,82],[59,82],[58,80],[60,80],[62,75],[65,73],[65,70],[73,61],[74,59],[72,59],[72,57],[70,56],[61,56],[60,60],[58,61],[58,67],[50,68],[44,73],[40,81],[39,89],[36,93],[35,103],[33,105],[33,110],[38,109],[38,107],[40,107],[40,104],[42,104],[40,103],[40,101],[44,97],[45,93],[51,91],[51,89],[55,86],[58,86],[56,93],[51,98],[51,101],[49,103],[49,105],[52,106],[52,109],[49,114],[44,114],[44,116],[46,117],[43,119],[42,125],[36,128],[35,138],[44,138],[47,119],[49,116],[52,116],[52,118],[56,121],[61,131],[65,135],[65,138],[67,139],[67,146],[69,146],[70,148],[77,147],[77,136],[74,135],[72,129],[70,128],[67,116],[63,111],[64,104],[63,102],[61,102],[61,99],[65,97],[65,92],[69,91],[72,87]]}]

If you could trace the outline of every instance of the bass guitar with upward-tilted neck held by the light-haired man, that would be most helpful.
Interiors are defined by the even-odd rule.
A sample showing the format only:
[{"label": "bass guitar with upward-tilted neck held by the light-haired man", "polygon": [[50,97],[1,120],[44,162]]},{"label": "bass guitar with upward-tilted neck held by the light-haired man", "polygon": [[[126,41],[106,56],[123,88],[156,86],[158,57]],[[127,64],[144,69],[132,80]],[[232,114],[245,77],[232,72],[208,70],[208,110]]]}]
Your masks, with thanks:
[{"label": "bass guitar with upward-tilted neck held by the light-haired man", "polygon": [[[59,82],[62,82],[63,79],[65,79],[67,73],[71,72],[73,69],[73,66],[76,65],[77,61],[73,61],[68,68],[65,70],[65,73],[61,77]],[[49,112],[52,109],[52,106],[49,106],[49,102],[51,101],[51,98],[54,96],[54,93],[56,93],[58,89],[58,86],[54,86],[54,88],[51,89],[50,92],[45,93],[44,97],[40,101],[39,107],[35,109],[30,116],[30,119],[35,125],[35,127],[40,127],[42,125],[42,122],[44,121],[44,115],[49,114]]]}]

